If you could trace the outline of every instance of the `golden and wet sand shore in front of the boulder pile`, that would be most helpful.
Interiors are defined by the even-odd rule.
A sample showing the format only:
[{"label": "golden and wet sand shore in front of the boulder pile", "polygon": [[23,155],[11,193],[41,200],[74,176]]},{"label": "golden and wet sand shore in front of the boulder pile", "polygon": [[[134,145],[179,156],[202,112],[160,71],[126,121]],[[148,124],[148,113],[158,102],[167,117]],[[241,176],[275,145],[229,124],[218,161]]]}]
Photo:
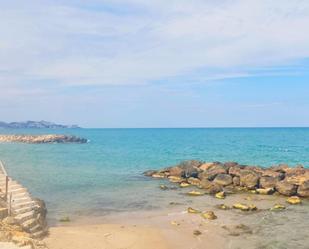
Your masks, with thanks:
[{"label": "golden and wet sand shore in front of the boulder pile", "polygon": [[[172,203],[162,210],[80,218],[66,226],[52,227],[45,241],[50,249],[308,248],[309,225],[304,222],[309,219],[308,201],[293,206],[285,200],[282,196],[256,194],[234,194],[224,200],[208,195],[185,197],[182,203]],[[254,204],[258,211],[216,207],[237,202]],[[286,210],[270,211],[277,203],[285,205]],[[189,214],[189,206],[214,211],[218,219]],[[200,235],[194,234],[197,230]]]}]

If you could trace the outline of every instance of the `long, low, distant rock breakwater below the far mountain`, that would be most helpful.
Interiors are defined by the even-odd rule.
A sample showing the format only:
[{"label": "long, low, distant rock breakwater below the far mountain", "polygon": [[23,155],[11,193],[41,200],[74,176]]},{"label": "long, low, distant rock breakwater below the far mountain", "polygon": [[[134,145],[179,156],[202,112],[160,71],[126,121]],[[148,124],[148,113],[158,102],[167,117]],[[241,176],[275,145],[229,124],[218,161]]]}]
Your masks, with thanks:
[{"label": "long, low, distant rock breakwater below the far mountain", "polygon": [[87,143],[88,140],[71,135],[0,135],[0,143]]}]

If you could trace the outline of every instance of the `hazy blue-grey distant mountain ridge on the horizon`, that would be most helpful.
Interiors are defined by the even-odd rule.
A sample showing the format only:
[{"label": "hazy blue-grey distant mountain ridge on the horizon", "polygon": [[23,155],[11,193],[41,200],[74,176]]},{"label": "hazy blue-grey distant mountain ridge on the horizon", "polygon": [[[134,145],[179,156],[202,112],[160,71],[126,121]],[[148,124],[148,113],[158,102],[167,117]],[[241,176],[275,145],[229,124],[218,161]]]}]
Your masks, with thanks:
[{"label": "hazy blue-grey distant mountain ridge on the horizon", "polygon": [[26,122],[11,122],[5,123],[0,121],[0,128],[12,128],[12,129],[28,129],[28,128],[37,128],[37,129],[73,129],[80,128],[77,125],[62,125],[55,124],[47,121],[26,121]]}]

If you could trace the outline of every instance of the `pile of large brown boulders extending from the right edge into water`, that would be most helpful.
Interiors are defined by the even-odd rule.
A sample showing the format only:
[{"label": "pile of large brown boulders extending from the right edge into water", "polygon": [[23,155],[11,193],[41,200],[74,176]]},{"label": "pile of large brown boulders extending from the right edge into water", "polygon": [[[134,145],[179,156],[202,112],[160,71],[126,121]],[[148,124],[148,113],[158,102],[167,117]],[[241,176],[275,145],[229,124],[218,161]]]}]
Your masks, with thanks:
[{"label": "pile of large brown boulders extending from the right edge into water", "polygon": [[[258,194],[309,197],[309,169],[302,165],[289,167],[280,164],[264,168],[236,162],[191,160],[161,170],[149,170],[144,175],[166,178],[179,185],[187,183],[203,189],[203,193],[213,195],[225,191],[251,191]],[[197,195],[198,191],[191,192]]]}]

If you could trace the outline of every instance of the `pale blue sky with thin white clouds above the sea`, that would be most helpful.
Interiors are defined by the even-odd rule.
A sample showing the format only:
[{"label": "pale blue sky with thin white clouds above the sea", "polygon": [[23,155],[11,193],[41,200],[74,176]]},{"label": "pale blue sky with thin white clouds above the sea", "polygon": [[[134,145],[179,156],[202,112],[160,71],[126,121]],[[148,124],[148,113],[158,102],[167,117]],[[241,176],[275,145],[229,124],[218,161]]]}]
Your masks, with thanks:
[{"label": "pale blue sky with thin white clouds above the sea", "polygon": [[309,126],[307,0],[0,0],[0,121]]}]

